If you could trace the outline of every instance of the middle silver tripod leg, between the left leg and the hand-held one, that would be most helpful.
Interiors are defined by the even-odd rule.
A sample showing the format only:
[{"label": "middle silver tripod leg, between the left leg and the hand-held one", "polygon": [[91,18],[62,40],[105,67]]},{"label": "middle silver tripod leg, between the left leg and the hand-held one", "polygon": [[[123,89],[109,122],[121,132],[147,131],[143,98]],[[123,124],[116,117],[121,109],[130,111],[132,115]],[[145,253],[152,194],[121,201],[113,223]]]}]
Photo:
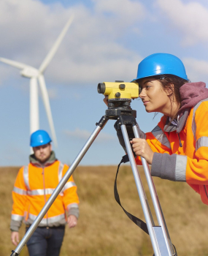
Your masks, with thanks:
[{"label": "middle silver tripod leg, between the left leg and the hand-held one", "polygon": [[142,210],[143,210],[144,215],[145,215],[145,221],[147,223],[147,228],[148,228],[148,232],[149,232],[149,235],[150,235],[150,240],[151,240],[152,245],[153,245],[153,251],[155,252],[155,256],[161,256],[161,253],[160,253],[159,248],[158,248],[157,239],[155,237],[155,231],[153,229],[153,224],[151,222],[151,217],[150,217],[150,213],[149,213],[149,209],[148,209],[149,206],[147,205],[145,190],[143,188],[142,181],[141,181],[141,178],[140,178],[138,170],[137,170],[136,162],[135,162],[135,159],[134,159],[134,154],[131,150],[131,145],[129,143],[128,133],[127,133],[127,130],[126,130],[126,125],[122,124],[120,126],[120,128],[121,128],[121,131],[122,131],[122,134],[123,134],[123,140],[124,140],[125,145],[126,145],[126,151],[127,151],[127,154],[128,154],[130,164],[131,164],[131,169],[132,169],[132,172],[133,172],[133,175],[134,175],[134,180],[136,182],[136,189],[139,193],[139,199],[140,199],[140,202],[141,202],[141,205],[142,205]]}]

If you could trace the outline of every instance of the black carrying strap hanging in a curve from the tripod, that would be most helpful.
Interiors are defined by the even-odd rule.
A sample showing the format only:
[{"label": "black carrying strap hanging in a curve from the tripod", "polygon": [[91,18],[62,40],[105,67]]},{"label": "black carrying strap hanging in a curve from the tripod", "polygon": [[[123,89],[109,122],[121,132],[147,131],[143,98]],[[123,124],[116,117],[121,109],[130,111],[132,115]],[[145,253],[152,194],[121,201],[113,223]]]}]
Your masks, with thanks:
[{"label": "black carrying strap hanging in a curve from the tripod", "polygon": [[[129,159],[128,159],[128,154],[126,154],[125,156],[122,157],[119,165],[118,165],[118,169],[117,169],[117,173],[116,173],[116,176],[115,176],[115,183],[114,183],[114,196],[115,196],[115,200],[116,202],[120,205],[121,208],[123,208],[123,206],[121,206],[121,203],[120,203],[120,197],[118,195],[118,189],[117,189],[117,176],[118,176],[118,170],[119,170],[119,167],[122,163],[126,163],[128,162]],[[129,214],[128,211],[125,210],[125,208],[123,208],[123,211],[125,212],[125,214],[128,216],[129,219],[132,220],[132,222],[134,222],[138,227],[140,227],[143,231],[145,231],[145,233],[147,233],[149,235],[149,232],[147,230],[147,224],[145,222],[142,221],[142,219],[139,219],[137,217],[135,217],[134,215],[132,214]]]}]

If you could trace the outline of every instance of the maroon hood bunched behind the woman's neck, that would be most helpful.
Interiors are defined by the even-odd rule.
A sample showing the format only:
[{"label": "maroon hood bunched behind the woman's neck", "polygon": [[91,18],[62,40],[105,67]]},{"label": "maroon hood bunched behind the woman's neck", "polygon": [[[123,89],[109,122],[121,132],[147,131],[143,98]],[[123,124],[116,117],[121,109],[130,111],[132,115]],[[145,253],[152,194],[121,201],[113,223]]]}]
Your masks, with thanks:
[{"label": "maroon hood bunched behind the woman's neck", "polygon": [[204,82],[185,83],[180,87],[181,107],[178,114],[182,114],[185,108],[192,108],[200,100],[208,98],[208,89]]}]

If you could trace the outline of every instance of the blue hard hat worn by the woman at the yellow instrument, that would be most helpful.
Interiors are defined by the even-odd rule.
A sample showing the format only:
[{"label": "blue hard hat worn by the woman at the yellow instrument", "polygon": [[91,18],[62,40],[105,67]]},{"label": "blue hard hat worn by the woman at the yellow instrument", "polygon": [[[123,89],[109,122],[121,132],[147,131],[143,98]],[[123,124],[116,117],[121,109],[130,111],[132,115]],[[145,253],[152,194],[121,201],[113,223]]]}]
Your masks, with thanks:
[{"label": "blue hard hat worn by the woman at the yellow instrument", "polygon": [[139,63],[137,77],[134,80],[155,75],[176,75],[188,80],[182,61],[169,53],[154,53],[143,59]]}]

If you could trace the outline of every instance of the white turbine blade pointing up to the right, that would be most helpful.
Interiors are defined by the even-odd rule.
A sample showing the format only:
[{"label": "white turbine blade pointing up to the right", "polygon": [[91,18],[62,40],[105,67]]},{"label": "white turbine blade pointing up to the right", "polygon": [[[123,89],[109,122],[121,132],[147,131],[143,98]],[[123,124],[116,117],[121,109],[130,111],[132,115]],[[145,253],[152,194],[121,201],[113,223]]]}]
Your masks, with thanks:
[{"label": "white turbine blade pointing up to the right", "polygon": [[59,45],[61,44],[63,37],[65,36],[67,30],[69,29],[69,26],[72,24],[72,20],[74,19],[74,16],[70,17],[66,25],[64,26],[63,30],[61,31],[61,34],[56,39],[53,47],[50,49],[50,52],[47,53],[47,56],[45,57],[44,61],[42,61],[42,64],[39,67],[39,72],[44,72],[47,68],[48,64],[50,63],[51,59],[53,59],[53,56],[55,55],[56,51],[58,50]]}]

